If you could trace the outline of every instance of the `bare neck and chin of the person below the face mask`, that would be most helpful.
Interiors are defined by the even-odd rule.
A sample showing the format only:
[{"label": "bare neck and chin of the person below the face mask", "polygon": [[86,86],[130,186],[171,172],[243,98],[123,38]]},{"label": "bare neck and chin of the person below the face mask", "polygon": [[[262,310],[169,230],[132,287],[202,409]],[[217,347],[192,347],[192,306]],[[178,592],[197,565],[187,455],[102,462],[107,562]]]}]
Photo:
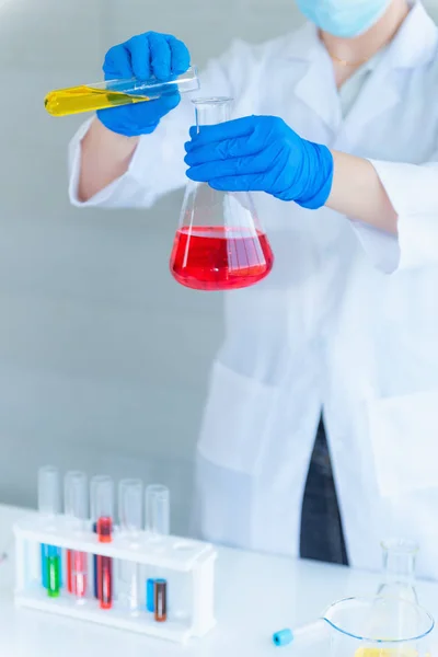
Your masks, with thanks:
[{"label": "bare neck and chin of the person below the face mask", "polygon": [[365,34],[354,38],[341,38],[321,32],[321,39],[335,65],[354,70],[394,38],[410,9],[407,0],[393,0],[380,21]]}]

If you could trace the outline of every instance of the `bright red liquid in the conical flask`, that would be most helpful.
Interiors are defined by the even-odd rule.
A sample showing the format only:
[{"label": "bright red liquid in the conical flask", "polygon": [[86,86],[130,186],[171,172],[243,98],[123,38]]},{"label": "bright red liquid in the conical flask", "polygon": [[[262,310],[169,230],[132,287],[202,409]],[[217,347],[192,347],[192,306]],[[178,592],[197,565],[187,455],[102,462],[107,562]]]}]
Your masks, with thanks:
[{"label": "bright red liquid in the conical flask", "polygon": [[221,226],[177,230],[171,256],[172,275],[181,285],[209,291],[254,285],[273,264],[265,233]]}]

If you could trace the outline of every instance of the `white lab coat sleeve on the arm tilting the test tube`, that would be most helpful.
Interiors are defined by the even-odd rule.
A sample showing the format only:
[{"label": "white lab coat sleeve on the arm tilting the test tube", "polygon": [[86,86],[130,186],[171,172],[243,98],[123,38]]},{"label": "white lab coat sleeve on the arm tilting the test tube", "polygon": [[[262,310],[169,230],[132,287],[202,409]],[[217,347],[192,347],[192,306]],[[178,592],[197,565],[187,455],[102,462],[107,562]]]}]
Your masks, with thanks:
[{"label": "white lab coat sleeve on the arm tilting the test tube", "polygon": [[[200,91],[196,95],[231,96],[235,99],[246,70],[251,66],[251,47],[235,41],[221,57],[211,60],[200,76]],[[195,123],[191,103],[193,94],[185,94],[178,107],[163,117],[152,135],[143,135],[127,172],[85,203],[78,198],[81,168],[81,141],[91,120],[84,123],[69,147],[69,197],[78,207],[139,208],[150,207],[169,192],[186,183],[184,143],[188,129]]]}]

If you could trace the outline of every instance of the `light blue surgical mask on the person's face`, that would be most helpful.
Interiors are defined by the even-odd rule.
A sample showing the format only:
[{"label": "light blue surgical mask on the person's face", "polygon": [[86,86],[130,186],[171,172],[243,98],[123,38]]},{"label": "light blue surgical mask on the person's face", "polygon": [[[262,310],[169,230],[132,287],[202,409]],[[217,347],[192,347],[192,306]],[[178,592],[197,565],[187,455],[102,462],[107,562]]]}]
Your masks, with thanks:
[{"label": "light blue surgical mask on the person's face", "polygon": [[391,0],[297,0],[297,4],[320,30],[353,38],[372,27]]}]

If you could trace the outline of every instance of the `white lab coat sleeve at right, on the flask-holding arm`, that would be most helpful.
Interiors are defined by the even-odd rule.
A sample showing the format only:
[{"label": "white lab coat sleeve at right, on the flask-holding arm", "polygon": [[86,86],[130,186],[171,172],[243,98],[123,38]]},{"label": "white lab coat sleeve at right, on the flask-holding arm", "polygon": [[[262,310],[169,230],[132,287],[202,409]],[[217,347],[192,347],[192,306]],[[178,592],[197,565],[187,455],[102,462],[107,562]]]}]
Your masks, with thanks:
[{"label": "white lab coat sleeve at right, on the flask-holding arm", "polygon": [[354,228],[374,265],[387,274],[438,265],[438,152],[423,165],[370,160],[399,215],[397,235],[360,221]]}]

